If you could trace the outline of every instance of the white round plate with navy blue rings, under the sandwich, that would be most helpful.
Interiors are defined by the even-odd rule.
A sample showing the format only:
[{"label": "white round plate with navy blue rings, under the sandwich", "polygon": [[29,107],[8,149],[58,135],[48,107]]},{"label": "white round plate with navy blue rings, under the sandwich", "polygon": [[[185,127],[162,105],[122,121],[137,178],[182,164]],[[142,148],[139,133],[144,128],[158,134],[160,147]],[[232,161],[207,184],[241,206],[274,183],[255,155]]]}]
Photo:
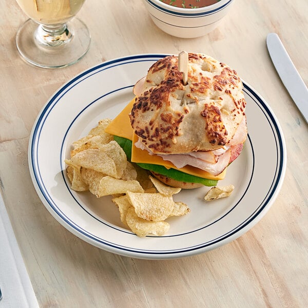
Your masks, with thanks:
[{"label": "white round plate with navy blue rings, under the sandwich", "polygon": [[64,159],[71,143],[100,119],[114,118],[133,98],[132,87],[162,54],[140,54],[102,63],[79,74],[46,103],[33,126],[29,167],[38,196],[70,232],[106,251],[144,259],[179,258],[226,244],[253,227],[273,204],[286,166],[285,142],[266,102],[244,83],[248,138],[219,185],[233,184],[228,198],[205,202],[208,190],[182,190],[174,197],[190,207],[169,218],[162,237],[139,238],[126,229],[111,197],[70,189]]}]

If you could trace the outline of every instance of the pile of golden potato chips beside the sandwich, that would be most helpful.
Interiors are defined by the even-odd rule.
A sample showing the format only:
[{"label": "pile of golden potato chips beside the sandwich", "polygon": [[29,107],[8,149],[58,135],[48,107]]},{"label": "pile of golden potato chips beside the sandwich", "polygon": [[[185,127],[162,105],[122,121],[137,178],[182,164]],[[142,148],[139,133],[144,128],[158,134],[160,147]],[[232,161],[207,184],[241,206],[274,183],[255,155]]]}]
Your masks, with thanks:
[{"label": "pile of golden potato chips beside the sandwich", "polygon": [[190,211],[185,203],[172,198],[181,189],[161,183],[128,162],[120,145],[105,132],[110,122],[101,120],[88,136],[73,142],[71,158],[65,160],[71,188],[89,190],[98,198],[111,195],[121,221],[133,233],[162,236],[170,227],[165,221],[168,217]]}]

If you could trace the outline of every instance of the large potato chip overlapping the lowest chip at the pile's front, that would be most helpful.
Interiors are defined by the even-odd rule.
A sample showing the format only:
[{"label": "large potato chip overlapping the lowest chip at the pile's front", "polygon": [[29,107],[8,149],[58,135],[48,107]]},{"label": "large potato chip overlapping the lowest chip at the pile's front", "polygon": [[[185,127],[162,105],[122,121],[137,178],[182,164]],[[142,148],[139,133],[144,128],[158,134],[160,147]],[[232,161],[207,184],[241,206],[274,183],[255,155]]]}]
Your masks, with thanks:
[{"label": "large potato chip overlapping the lowest chip at the pile's front", "polygon": [[171,196],[127,191],[128,199],[138,217],[148,221],[161,221],[170,216],[174,208]]}]

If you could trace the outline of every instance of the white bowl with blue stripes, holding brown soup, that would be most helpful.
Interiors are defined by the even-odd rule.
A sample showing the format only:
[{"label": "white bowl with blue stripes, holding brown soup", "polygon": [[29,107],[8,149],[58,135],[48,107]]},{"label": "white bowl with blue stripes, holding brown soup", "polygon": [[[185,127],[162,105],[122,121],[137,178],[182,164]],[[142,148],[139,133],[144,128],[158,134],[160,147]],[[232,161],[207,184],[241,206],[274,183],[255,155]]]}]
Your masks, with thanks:
[{"label": "white bowl with blue stripes, holding brown soup", "polygon": [[152,21],[164,32],[183,38],[199,37],[213,31],[226,15],[234,0],[219,2],[197,9],[184,9],[160,0],[144,0]]}]

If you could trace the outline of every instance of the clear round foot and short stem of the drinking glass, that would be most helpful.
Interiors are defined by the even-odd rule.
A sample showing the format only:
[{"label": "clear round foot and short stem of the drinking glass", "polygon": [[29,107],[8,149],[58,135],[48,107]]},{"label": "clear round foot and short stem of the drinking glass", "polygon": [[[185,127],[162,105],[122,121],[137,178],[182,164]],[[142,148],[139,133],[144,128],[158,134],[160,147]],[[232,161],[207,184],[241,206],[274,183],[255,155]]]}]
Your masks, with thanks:
[{"label": "clear round foot and short stem of the drinking glass", "polygon": [[16,46],[22,58],[44,68],[60,68],[78,62],[89,50],[90,42],[87,26],[76,17],[54,29],[29,19],[16,34]]}]

